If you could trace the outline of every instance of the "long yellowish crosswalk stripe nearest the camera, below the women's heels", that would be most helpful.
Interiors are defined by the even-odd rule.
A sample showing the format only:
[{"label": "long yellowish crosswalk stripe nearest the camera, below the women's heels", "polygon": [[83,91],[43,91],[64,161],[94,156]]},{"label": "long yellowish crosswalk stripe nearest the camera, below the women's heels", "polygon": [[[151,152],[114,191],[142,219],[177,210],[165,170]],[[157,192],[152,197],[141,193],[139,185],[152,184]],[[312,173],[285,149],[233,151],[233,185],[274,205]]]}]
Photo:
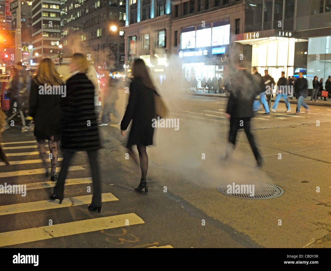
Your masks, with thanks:
[{"label": "long yellowish crosswalk stripe nearest the camera, below the women's heels", "polygon": [[[4,232],[0,233],[0,247],[69,236],[79,233],[125,227],[126,220],[129,221],[129,225],[145,223],[144,220],[142,220],[135,213],[128,213],[68,222],[52,226],[43,226],[39,228]],[[77,238],[79,238],[79,236]]]}]

